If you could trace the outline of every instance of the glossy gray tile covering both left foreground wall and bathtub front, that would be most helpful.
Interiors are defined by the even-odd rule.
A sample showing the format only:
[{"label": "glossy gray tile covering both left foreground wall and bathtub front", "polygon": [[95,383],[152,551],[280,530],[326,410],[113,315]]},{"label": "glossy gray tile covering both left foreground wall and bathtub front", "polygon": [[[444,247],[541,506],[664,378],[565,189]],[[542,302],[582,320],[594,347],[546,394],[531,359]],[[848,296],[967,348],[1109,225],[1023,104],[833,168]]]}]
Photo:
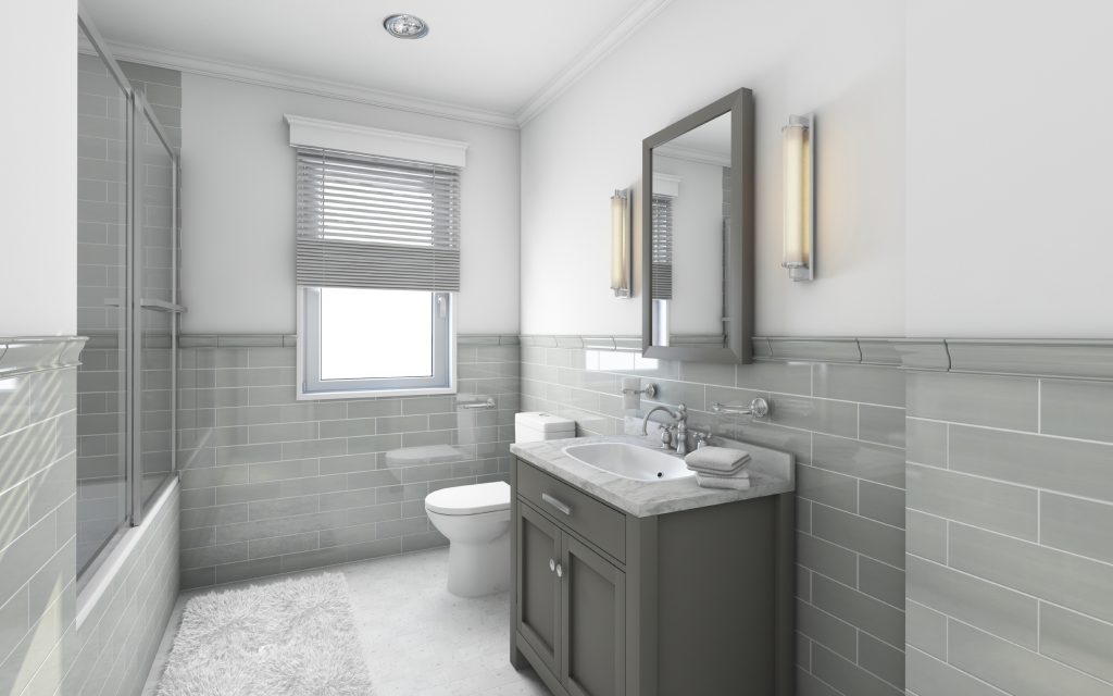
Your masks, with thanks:
[{"label": "glossy gray tile covering both left foreground wall and bathtub front", "polygon": [[2,694],[139,694],[178,592],[177,488],[170,488],[119,570],[101,578],[99,598],[81,598],[91,604],[78,625],[76,414],[83,342],[0,339]]}]

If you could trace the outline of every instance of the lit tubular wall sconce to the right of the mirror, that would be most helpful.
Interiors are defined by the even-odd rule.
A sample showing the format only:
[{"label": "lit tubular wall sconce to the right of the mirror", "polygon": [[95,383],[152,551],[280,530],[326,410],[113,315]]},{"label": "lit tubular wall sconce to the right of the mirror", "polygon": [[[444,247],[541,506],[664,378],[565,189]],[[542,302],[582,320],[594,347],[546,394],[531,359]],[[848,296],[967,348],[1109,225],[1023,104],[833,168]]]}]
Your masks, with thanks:
[{"label": "lit tubular wall sconce to the right of the mirror", "polygon": [[780,129],[785,167],[785,255],[794,281],[816,273],[816,119],[789,116]]}]

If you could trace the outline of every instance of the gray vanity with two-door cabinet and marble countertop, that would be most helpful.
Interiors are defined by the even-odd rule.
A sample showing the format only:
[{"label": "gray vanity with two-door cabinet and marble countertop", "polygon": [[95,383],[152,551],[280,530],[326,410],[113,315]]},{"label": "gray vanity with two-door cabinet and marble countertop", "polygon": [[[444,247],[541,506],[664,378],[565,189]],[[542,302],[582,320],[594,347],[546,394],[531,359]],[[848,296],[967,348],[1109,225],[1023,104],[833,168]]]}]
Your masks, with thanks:
[{"label": "gray vanity with two-door cabinet and marble countertop", "polygon": [[558,696],[790,696],[792,455],[733,443],[752,486],[728,491],[564,451],[592,443],[653,447],[511,448],[511,663]]}]

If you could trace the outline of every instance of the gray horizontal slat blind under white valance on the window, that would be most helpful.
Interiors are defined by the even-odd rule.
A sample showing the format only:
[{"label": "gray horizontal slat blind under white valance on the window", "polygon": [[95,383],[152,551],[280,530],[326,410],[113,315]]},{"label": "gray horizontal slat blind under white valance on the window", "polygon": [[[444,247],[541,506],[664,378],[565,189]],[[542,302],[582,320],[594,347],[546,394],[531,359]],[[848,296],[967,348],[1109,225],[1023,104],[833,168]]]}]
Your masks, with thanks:
[{"label": "gray horizontal slat blind under white valance on the window", "polygon": [[460,169],[297,148],[297,284],[460,291]]}]

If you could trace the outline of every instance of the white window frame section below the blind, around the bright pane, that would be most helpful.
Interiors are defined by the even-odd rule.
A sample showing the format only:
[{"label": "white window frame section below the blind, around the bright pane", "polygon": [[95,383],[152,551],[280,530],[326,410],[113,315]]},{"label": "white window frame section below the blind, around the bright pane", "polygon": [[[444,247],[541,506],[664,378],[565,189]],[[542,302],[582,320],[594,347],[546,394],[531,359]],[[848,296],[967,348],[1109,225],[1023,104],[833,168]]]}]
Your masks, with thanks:
[{"label": "white window frame section below the blind, around the bright pane", "polygon": [[418,396],[456,393],[456,320],[453,293],[433,292],[433,375],[321,379],[321,288],[297,288],[297,400]]}]

